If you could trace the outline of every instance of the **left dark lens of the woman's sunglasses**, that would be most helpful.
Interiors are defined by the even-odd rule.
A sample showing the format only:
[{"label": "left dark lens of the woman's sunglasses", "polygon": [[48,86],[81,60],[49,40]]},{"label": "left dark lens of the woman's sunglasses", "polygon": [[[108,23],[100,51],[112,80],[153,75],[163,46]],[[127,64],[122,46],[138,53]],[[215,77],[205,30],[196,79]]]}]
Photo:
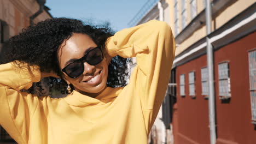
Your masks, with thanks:
[{"label": "left dark lens of the woman's sunglasses", "polygon": [[69,77],[75,78],[81,75],[84,71],[84,65],[81,62],[74,62],[67,66],[66,73]]}]

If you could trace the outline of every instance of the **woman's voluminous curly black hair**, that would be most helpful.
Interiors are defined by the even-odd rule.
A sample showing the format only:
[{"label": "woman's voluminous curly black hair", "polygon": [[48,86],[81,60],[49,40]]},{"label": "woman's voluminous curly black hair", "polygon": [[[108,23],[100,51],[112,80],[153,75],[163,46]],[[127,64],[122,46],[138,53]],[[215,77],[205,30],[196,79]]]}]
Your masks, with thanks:
[{"label": "woman's voluminous curly black hair", "polygon": [[[63,41],[69,39],[73,33],[87,34],[98,46],[102,47],[105,47],[106,40],[114,34],[109,25],[100,27],[84,25],[80,20],[64,17],[46,19],[22,29],[20,34],[9,39],[6,62],[18,60],[29,65],[38,65],[40,71],[54,71],[62,77],[57,51]],[[129,77],[127,68],[129,63],[130,59],[120,56],[112,58],[108,65],[108,87],[124,87],[126,85],[126,80]],[[63,79],[48,77],[34,83],[28,92],[52,95],[56,89],[64,93],[66,87],[67,83]]]}]

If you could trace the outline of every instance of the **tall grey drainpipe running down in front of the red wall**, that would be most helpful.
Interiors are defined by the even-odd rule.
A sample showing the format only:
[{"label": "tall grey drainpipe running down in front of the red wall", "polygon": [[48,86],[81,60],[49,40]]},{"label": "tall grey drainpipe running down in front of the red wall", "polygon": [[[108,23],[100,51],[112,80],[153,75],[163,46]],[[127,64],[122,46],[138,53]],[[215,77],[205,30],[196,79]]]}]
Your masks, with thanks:
[{"label": "tall grey drainpipe running down in front of the red wall", "polygon": [[211,144],[216,143],[216,122],[215,122],[215,95],[214,95],[214,69],[213,69],[213,47],[209,38],[211,33],[212,8],[211,1],[206,1],[206,43],[207,43],[207,67],[208,67],[208,85],[209,85],[209,121],[210,121],[210,141]]}]

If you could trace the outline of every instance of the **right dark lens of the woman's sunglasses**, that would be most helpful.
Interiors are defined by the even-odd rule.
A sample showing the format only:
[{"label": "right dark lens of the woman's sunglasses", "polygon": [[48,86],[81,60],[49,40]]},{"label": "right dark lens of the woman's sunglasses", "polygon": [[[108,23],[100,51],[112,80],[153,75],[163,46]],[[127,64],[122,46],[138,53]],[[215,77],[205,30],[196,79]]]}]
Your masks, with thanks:
[{"label": "right dark lens of the woman's sunglasses", "polygon": [[90,65],[96,65],[103,60],[103,54],[100,48],[95,48],[94,50],[87,53],[85,61]]}]

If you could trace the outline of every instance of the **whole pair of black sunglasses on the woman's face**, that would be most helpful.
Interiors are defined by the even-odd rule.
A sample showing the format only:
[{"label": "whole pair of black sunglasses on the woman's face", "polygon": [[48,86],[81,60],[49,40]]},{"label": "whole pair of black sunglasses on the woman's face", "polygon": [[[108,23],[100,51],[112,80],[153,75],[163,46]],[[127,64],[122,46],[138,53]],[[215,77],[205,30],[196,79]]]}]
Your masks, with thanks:
[{"label": "whole pair of black sunglasses on the woman's face", "polygon": [[84,72],[84,62],[87,62],[90,65],[96,65],[103,60],[103,52],[101,47],[95,47],[94,49],[88,51],[82,58],[75,60],[72,63],[69,63],[61,71],[66,73],[72,79],[77,78]]}]

